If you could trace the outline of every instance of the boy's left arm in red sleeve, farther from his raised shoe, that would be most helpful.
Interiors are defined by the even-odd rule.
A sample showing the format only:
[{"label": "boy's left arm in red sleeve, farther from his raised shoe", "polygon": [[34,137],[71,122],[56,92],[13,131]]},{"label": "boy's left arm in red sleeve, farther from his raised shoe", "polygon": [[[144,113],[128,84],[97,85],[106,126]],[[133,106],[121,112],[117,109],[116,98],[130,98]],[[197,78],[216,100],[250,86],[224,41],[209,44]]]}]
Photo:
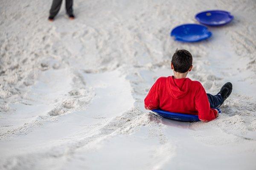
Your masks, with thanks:
[{"label": "boy's left arm in red sleeve, farther from his raised shoe", "polygon": [[159,108],[159,89],[158,89],[159,79],[151,87],[148,95],[144,99],[145,109],[153,110]]}]

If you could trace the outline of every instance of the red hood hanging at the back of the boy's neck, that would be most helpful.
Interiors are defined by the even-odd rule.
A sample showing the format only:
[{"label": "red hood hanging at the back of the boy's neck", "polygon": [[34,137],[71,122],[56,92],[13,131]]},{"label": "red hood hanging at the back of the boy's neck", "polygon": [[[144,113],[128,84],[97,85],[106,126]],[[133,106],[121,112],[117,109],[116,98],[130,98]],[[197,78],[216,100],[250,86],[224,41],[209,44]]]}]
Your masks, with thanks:
[{"label": "red hood hanging at the back of the boy's neck", "polygon": [[179,99],[189,92],[192,80],[189,78],[175,79],[169,76],[166,79],[166,87],[173,98]]}]

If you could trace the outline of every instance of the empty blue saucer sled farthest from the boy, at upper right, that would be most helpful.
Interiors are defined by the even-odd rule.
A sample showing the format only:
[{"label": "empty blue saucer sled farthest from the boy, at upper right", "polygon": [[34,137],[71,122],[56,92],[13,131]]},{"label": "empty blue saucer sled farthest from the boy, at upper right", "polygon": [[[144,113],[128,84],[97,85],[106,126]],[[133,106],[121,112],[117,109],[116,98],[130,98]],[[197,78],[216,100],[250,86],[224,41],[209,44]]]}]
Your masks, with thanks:
[{"label": "empty blue saucer sled farthest from the boy, at upper right", "polygon": [[233,18],[230,12],[221,10],[203,11],[195,15],[199,23],[208,26],[223,26],[230,23]]}]

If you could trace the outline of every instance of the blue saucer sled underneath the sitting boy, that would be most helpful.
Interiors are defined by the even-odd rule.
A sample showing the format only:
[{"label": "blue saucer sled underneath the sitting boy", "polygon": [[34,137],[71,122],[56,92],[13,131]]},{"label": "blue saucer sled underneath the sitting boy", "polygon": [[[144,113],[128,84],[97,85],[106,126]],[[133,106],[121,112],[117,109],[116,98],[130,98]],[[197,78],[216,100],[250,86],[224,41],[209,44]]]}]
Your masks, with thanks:
[{"label": "blue saucer sled underneath the sitting boy", "polygon": [[[215,108],[218,110],[218,113],[221,113],[221,110],[219,108]],[[166,119],[172,119],[180,122],[198,122],[200,121],[198,119],[198,116],[191,115],[191,114],[183,114],[183,113],[172,113],[168,111],[162,111],[158,109],[152,110],[155,114],[162,116]]]}]

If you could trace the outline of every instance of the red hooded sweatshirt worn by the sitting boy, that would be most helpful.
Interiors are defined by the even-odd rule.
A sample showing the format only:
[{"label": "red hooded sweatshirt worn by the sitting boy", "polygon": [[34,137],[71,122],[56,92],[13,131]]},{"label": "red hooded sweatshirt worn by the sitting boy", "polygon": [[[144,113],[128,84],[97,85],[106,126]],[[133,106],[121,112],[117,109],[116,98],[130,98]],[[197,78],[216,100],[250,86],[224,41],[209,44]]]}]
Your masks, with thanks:
[{"label": "red hooded sweatshirt worn by the sitting boy", "polygon": [[189,78],[160,77],[148,92],[144,102],[148,110],[161,109],[198,115],[201,121],[211,121],[217,115],[217,111],[210,108],[201,83]]}]

